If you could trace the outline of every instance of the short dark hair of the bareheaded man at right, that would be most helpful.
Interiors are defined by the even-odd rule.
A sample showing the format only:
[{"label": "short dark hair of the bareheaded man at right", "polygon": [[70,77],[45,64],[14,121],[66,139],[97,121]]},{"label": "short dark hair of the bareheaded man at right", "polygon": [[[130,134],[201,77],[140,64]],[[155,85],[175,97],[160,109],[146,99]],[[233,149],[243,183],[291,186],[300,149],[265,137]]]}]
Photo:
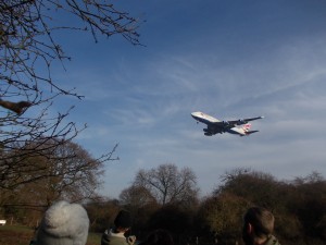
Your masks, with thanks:
[{"label": "short dark hair of the bareheaded man at right", "polygon": [[252,207],[244,215],[244,224],[250,223],[258,236],[272,234],[274,230],[274,216],[265,208]]}]

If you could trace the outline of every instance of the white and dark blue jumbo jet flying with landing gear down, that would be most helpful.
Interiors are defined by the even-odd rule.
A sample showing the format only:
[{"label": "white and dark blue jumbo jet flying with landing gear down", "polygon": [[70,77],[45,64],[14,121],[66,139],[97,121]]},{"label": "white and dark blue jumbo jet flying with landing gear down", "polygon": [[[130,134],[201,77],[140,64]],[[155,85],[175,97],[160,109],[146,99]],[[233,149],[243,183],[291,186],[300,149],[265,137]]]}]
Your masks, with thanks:
[{"label": "white and dark blue jumbo jet flying with landing gear down", "polygon": [[212,136],[215,134],[223,134],[223,133],[230,133],[239,136],[248,136],[250,134],[259,132],[259,131],[250,131],[251,124],[248,122],[264,118],[264,117],[256,117],[250,119],[220,121],[218,119],[215,119],[212,115],[205,114],[201,111],[192,112],[191,117],[197,121],[197,123],[201,122],[208,125],[206,128],[203,128],[204,135],[206,136]]}]

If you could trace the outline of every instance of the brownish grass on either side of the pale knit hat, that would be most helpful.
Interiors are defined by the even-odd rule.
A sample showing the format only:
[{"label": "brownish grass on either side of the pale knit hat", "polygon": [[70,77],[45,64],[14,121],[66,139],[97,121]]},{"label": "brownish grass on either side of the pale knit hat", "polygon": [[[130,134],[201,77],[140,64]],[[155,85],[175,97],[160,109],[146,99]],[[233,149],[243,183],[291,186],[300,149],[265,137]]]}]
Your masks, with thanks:
[{"label": "brownish grass on either side of the pale knit hat", "polygon": [[[1,245],[28,245],[34,237],[34,229],[23,225],[0,226]],[[101,244],[101,234],[89,233],[86,245]]]}]

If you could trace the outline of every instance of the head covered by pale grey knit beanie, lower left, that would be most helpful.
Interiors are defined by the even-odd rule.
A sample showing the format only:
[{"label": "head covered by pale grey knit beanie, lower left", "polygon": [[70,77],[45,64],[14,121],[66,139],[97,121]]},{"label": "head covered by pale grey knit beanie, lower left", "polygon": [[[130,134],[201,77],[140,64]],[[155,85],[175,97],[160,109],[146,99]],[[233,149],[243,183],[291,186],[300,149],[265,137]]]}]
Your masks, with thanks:
[{"label": "head covered by pale grey knit beanie, lower left", "polygon": [[89,219],[78,204],[53,204],[45,213],[36,236],[37,245],[85,245]]}]

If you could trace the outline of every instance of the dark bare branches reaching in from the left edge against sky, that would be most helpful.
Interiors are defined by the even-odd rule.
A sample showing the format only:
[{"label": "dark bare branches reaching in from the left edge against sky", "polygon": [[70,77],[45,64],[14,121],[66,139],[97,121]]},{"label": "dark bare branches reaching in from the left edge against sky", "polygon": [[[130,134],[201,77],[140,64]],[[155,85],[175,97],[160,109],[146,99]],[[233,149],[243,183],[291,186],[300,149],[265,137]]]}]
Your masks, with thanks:
[{"label": "dark bare branches reaching in from the left edge against sky", "polygon": [[[75,17],[77,22],[73,23],[77,26],[58,25],[55,16]],[[73,107],[57,114],[49,112],[61,96],[83,98],[75,88],[62,88],[51,77],[53,63],[60,62],[64,69],[64,62],[71,59],[55,40],[55,34],[88,32],[95,41],[98,35],[117,34],[139,45],[137,23],[138,20],[105,0],[0,1],[0,187],[13,186],[11,181],[25,168],[21,168],[24,161],[17,158],[46,155],[42,151],[48,147],[57,149],[86,127],[78,128],[70,122]],[[32,107],[37,113],[28,113]],[[28,182],[33,176],[38,179],[37,174],[29,174]],[[25,182],[16,180],[14,185]]]}]

